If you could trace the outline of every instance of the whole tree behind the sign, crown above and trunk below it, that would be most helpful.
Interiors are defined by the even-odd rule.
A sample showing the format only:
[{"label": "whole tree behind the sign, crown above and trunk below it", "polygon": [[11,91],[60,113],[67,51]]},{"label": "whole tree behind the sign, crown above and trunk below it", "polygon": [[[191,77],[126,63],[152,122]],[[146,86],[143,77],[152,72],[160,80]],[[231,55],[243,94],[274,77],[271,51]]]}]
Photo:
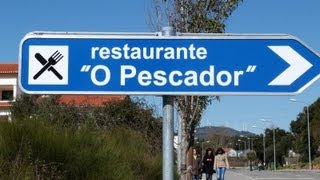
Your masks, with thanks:
[{"label": "whole tree behind the sign, crown above and trunk below it", "polygon": [[[149,16],[149,24],[153,30],[158,31],[161,27],[170,25],[176,32],[182,33],[223,33],[226,19],[241,2],[242,0],[153,0],[154,11]],[[187,162],[187,154],[194,144],[194,130],[199,125],[202,113],[213,100],[218,99],[217,96],[176,97],[175,104],[182,122],[183,165],[190,164]],[[187,178],[185,173],[180,177]]]}]

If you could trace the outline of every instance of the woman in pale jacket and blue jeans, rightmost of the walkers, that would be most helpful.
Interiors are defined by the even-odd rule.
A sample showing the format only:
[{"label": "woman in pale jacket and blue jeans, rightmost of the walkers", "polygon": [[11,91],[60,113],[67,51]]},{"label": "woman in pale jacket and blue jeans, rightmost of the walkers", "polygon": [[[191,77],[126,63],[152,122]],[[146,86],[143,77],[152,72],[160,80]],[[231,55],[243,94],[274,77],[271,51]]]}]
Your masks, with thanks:
[{"label": "woman in pale jacket and blue jeans, rightmost of the walkers", "polygon": [[214,157],[213,168],[216,170],[217,180],[224,180],[224,174],[226,170],[229,169],[229,161],[221,147],[217,149],[216,156]]}]

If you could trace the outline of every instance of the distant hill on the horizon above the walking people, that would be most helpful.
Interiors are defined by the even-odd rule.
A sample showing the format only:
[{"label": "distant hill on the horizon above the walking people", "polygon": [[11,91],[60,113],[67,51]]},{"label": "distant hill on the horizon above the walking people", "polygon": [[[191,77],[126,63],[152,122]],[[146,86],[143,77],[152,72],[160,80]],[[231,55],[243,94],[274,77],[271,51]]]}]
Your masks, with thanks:
[{"label": "distant hill on the horizon above the walking people", "polygon": [[251,132],[248,131],[237,131],[235,129],[224,127],[224,126],[204,126],[196,129],[195,136],[199,139],[203,139],[204,137],[210,137],[210,136],[227,136],[227,137],[233,137],[233,136],[251,136],[254,135]]}]

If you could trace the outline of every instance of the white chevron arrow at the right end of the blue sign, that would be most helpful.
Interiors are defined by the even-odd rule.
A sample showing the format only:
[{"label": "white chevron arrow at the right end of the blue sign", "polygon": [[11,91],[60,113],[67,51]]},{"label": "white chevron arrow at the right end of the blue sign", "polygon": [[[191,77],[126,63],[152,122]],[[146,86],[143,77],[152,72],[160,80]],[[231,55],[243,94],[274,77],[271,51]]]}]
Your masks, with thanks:
[{"label": "white chevron arrow at the right end of the blue sign", "polygon": [[289,86],[312,67],[309,61],[290,46],[268,47],[290,65],[285,71],[272,80],[269,86]]}]

